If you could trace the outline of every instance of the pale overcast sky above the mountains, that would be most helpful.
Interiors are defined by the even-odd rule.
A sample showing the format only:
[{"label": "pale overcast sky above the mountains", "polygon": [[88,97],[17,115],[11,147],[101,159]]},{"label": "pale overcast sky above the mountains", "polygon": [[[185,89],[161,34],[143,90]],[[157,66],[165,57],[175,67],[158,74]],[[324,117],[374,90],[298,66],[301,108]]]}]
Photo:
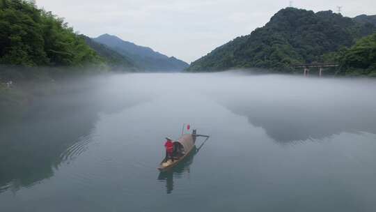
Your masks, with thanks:
[{"label": "pale overcast sky above the mountains", "polygon": [[[39,7],[65,17],[76,31],[116,35],[190,63],[237,36],[263,27],[284,0],[37,0]],[[375,15],[375,0],[293,1],[293,6]]]}]

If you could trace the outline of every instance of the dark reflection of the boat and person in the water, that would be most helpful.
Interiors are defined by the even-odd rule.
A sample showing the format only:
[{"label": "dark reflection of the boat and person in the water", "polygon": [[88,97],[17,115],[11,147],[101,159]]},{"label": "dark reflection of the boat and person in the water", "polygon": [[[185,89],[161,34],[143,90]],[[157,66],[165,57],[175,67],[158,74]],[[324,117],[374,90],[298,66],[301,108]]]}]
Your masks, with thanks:
[{"label": "dark reflection of the boat and person in the water", "polygon": [[190,173],[190,166],[193,163],[196,153],[198,153],[198,149],[195,147],[194,150],[192,150],[192,153],[180,162],[179,165],[166,172],[159,173],[158,181],[166,182],[167,194],[171,194],[173,191],[174,179],[181,179],[185,173]]}]

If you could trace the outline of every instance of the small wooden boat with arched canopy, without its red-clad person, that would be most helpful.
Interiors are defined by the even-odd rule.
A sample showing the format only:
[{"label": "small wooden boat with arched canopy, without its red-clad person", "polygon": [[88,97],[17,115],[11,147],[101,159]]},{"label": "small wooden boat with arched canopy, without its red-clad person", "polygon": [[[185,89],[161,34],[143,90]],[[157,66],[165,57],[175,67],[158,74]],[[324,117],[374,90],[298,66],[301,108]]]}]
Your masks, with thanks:
[{"label": "small wooden boat with arched canopy, without its red-clad person", "polygon": [[167,170],[171,169],[172,167],[175,167],[179,164],[182,160],[187,158],[189,154],[196,148],[195,146],[196,142],[196,135],[194,134],[186,134],[182,135],[178,141],[173,142],[174,146],[180,146],[180,155],[173,160],[165,161],[162,160],[160,163],[158,169],[160,172],[166,172]]}]

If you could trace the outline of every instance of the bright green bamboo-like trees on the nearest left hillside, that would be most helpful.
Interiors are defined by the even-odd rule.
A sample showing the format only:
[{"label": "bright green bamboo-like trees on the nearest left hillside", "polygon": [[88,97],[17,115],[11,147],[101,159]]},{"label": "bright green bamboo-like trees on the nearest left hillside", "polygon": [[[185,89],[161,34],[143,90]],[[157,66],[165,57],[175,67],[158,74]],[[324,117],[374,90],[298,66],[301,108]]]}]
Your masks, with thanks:
[{"label": "bright green bamboo-like trees on the nearest left hillside", "polygon": [[63,19],[36,8],[34,1],[1,1],[0,63],[83,66],[99,62],[97,54]]}]

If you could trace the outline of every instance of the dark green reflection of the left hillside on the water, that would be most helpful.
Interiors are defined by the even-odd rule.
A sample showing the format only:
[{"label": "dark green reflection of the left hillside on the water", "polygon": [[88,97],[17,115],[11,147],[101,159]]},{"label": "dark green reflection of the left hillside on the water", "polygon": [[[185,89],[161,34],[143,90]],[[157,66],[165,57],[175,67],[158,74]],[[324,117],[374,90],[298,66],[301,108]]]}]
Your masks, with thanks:
[{"label": "dark green reflection of the left hillside on the water", "polygon": [[56,102],[39,103],[22,123],[0,128],[0,187],[17,190],[51,177],[61,153],[90,134],[97,120],[93,110]]}]

